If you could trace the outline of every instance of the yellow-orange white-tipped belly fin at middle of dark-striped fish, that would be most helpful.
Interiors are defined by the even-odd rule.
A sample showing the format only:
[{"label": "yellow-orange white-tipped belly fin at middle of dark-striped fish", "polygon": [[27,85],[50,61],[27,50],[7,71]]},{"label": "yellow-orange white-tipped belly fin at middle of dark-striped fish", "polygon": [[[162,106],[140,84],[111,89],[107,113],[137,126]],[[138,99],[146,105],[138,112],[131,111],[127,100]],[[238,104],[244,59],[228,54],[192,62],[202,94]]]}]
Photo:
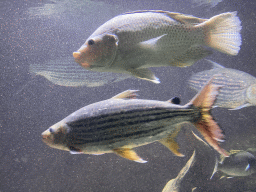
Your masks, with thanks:
[{"label": "yellow-orange white-tipped belly fin at middle of dark-striped fish", "polygon": [[129,148],[117,148],[117,149],[113,149],[114,153],[116,153],[117,155],[132,160],[132,161],[136,161],[138,163],[146,163],[147,161],[143,160],[142,158],[140,158],[137,153],[135,151],[133,151],[132,149]]}]

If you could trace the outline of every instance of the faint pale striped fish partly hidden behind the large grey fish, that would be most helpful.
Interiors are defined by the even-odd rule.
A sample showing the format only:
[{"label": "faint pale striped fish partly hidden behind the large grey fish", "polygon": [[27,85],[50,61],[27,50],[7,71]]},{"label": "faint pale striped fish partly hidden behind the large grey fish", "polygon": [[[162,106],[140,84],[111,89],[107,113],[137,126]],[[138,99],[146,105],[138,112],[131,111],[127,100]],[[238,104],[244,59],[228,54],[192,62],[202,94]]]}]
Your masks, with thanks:
[{"label": "faint pale striped fish partly hidden behind the large grey fish", "polygon": [[29,72],[65,87],[99,87],[132,78],[128,74],[84,70],[74,62],[72,56],[48,60],[43,64],[30,64]]}]

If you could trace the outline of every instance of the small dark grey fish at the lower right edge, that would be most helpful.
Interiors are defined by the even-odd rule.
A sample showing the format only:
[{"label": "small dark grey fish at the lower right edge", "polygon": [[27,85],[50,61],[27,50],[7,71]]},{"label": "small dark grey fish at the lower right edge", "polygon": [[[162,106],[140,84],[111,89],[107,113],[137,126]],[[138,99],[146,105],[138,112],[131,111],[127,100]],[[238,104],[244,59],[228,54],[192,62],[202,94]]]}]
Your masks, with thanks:
[{"label": "small dark grey fish at the lower right edge", "polygon": [[229,157],[221,156],[220,162],[216,160],[213,175],[221,171],[231,177],[244,177],[256,172],[256,158],[253,154],[243,150],[231,150],[229,154]]}]

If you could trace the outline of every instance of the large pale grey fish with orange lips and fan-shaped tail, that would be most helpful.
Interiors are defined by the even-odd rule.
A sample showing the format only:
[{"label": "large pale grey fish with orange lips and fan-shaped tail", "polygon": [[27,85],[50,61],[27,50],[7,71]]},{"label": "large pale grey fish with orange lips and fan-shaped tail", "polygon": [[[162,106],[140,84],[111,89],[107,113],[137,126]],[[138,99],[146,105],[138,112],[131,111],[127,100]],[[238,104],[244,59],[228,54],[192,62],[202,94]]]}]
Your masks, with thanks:
[{"label": "large pale grey fish with orange lips and fan-shaped tail", "polygon": [[88,70],[160,83],[150,67],[191,66],[212,54],[205,47],[237,55],[241,28],[236,12],[210,19],[161,10],[128,12],[101,25],[73,57]]}]

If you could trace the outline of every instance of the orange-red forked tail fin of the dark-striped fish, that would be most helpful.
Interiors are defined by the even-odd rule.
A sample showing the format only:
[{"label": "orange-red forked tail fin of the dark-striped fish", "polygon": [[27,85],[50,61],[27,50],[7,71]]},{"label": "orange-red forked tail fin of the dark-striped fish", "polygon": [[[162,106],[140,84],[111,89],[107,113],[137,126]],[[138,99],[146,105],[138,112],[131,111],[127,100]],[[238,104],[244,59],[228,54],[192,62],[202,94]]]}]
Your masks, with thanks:
[{"label": "orange-red forked tail fin of the dark-striped fish", "polygon": [[210,113],[220,88],[212,84],[213,79],[214,77],[188,104],[200,109],[201,119],[194,124],[204,139],[220,154],[228,156],[228,153],[219,146],[219,141],[223,141],[224,135]]}]

